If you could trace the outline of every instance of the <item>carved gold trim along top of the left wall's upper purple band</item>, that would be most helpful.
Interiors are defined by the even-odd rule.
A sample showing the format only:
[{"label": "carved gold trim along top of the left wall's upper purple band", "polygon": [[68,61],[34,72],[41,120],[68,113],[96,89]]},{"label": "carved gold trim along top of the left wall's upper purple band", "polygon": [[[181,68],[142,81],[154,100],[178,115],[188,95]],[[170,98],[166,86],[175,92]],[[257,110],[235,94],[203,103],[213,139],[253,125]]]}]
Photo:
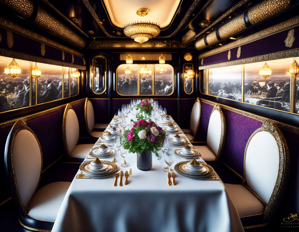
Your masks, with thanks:
[{"label": "carved gold trim along top of the left wall's upper purple band", "polygon": [[42,35],[39,35],[33,31],[30,31],[24,27],[19,26],[18,24],[15,24],[11,21],[8,21],[7,19],[4,19],[2,17],[0,17],[0,25],[2,28],[4,29],[9,29],[9,30],[13,30],[14,32],[20,34],[20,35],[25,35],[26,37],[30,38],[30,39],[34,39],[37,41],[41,41],[44,42],[48,45],[50,45],[51,47],[55,47],[55,48],[59,48],[61,50],[65,50],[71,54],[75,54],[77,56],[83,57],[83,54],[81,52],[77,52],[71,48],[68,48],[62,44],[59,44],[51,39],[48,39]]}]

